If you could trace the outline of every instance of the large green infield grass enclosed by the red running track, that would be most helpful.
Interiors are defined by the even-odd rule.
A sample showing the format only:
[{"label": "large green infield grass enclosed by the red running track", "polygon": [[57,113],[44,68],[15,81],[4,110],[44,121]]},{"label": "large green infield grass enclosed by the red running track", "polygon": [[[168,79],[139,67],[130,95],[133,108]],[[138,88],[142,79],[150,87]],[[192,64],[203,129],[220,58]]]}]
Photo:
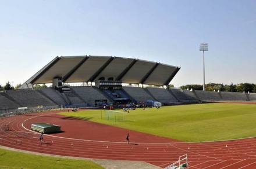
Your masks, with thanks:
[{"label": "large green infield grass enclosed by the red running track", "polygon": [[[136,109],[124,122],[101,119],[101,110],[64,112],[97,123],[155,134],[182,141],[215,141],[256,136],[256,105],[194,104]],[[105,112],[102,111],[102,116]]]}]

